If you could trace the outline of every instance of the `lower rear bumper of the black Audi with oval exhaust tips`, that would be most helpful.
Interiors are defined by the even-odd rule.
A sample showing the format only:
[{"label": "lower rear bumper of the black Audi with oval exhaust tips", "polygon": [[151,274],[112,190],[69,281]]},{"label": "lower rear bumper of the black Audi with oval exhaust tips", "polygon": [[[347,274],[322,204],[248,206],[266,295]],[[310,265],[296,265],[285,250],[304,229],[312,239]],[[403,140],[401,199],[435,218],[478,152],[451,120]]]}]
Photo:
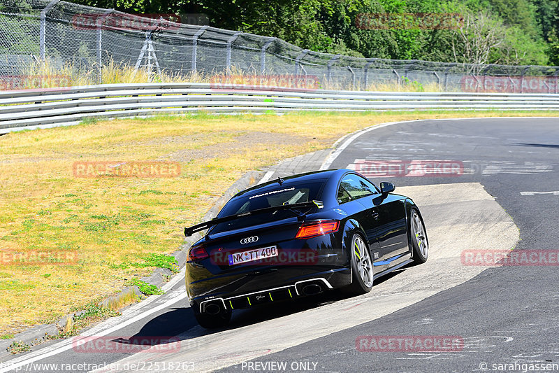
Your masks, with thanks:
[{"label": "lower rear bumper of the black Audi with oval exhaust tips", "polygon": [[[282,267],[261,269],[256,273],[235,274],[229,279],[207,279],[222,286],[208,293],[191,295],[191,307],[203,312],[209,304],[226,309],[242,309],[256,304],[290,300],[321,293],[351,283],[351,269],[346,267],[318,270],[317,267]],[[208,285],[210,285],[208,283]]]}]

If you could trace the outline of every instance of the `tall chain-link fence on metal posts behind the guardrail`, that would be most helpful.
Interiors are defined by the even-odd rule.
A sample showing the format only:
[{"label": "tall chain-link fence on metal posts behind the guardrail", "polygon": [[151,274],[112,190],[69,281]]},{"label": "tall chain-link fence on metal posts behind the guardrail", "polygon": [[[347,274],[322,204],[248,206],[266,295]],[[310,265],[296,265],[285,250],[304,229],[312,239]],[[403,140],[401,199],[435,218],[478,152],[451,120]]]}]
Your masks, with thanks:
[{"label": "tall chain-link fence on metal posts behind the guardrail", "polygon": [[559,67],[365,59],[303,50],[278,38],[184,24],[175,15],[138,16],[58,0],[0,0],[0,77],[48,60],[54,69],[93,74],[108,64],[146,69],[156,78],[316,77],[321,87],[375,90],[380,85],[449,92],[558,93]]}]

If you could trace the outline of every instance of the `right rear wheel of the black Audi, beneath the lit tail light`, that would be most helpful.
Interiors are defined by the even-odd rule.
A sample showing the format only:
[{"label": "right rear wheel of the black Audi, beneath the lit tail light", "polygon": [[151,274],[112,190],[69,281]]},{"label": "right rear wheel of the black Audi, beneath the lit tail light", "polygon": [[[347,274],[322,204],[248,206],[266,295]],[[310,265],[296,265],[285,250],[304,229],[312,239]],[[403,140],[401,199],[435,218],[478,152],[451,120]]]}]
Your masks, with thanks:
[{"label": "right rear wheel of the black Audi, beneath the lit tail light", "polygon": [[347,293],[361,295],[372,289],[372,260],[369,248],[361,234],[354,234],[351,238],[351,284]]}]

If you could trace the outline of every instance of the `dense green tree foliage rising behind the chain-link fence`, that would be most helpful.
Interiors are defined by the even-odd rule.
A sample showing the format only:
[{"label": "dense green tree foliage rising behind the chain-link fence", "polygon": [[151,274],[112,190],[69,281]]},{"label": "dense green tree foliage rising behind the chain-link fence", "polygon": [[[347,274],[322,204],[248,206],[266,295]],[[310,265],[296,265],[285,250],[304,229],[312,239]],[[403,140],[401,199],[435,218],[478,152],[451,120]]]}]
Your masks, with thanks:
[{"label": "dense green tree foliage rising behind the chain-link fence", "polygon": [[[441,62],[469,59],[483,63],[559,64],[558,0],[78,2],[133,13],[205,13],[212,26],[276,36],[320,52]],[[456,29],[360,29],[356,18],[363,13],[459,13],[464,24]],[[491,43],[491,38],[498,40]]]}]

